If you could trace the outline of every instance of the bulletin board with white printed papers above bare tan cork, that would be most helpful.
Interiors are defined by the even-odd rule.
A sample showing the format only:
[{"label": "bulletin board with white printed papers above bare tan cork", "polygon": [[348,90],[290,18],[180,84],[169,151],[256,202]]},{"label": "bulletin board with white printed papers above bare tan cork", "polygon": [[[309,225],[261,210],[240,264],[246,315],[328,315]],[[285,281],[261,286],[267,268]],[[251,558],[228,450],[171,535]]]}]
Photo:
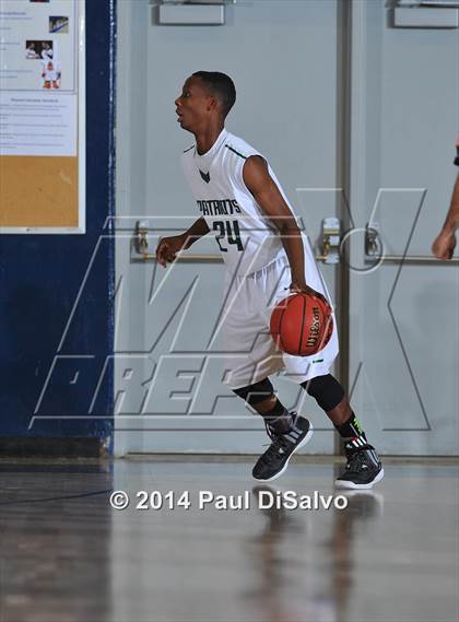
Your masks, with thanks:
[{"label": "bulletin board with white printed papers above bare tan cork", "polygon": [[0,233],[85,233],[79,0],[2,0]]}]

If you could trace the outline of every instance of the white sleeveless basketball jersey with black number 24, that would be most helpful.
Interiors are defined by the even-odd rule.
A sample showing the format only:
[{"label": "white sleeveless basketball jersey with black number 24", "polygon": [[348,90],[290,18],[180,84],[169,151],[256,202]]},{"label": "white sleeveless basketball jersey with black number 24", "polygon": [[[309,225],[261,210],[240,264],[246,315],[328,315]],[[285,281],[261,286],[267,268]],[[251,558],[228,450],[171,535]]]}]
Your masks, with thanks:
[{"label": "white sleeveless basketball jersey with black number 24", "polygon": [[[181,156],[199,213],[215,234],[226,269],[238,275],[256,272],[284,254],[278,230],[244,183],[243,167],[251,155],[261,154],[223,129],[203,155],[193,145]],[[291,207],[270,166],[269,173]]]}]

